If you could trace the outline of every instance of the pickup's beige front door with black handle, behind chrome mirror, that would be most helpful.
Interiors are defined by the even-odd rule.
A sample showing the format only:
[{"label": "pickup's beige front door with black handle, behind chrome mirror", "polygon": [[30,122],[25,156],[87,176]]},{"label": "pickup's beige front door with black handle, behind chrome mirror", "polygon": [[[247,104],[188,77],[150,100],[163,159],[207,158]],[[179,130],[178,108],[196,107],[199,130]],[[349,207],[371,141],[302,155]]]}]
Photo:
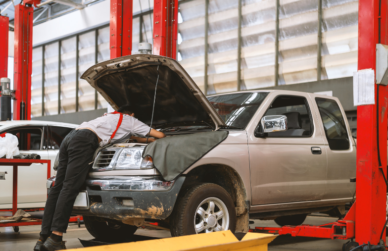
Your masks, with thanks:
[{"label": "pickup's beige front door with black handle, behind chrome mirror", "polygon": [[[275,95],[275,94],[273,94]],[[321,200],[327,159],[319,123],[307,94],[279,95],[256,117],[286,115],[288,130],[248,137],[252,204]]]}]

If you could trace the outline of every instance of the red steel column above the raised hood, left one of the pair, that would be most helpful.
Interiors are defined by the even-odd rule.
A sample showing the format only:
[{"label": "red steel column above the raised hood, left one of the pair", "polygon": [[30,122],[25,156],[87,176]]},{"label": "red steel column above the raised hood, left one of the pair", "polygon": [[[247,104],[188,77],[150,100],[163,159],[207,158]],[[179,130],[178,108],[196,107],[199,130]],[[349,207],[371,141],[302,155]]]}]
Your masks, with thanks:
[{"label": "red steel column above the raised hood, left one of the pair", "polygon": [[110,0],[110,58],[131,55],[132,0]]}]

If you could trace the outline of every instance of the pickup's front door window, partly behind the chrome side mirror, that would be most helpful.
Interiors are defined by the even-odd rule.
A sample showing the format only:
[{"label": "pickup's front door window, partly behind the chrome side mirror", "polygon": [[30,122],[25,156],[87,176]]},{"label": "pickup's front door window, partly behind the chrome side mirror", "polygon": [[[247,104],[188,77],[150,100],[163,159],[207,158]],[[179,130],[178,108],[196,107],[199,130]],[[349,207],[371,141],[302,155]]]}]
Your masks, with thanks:
[{"label": "pickup's front door window, partly behind the chrome side mirror", "polygon": [[[264,116],[269,115],[285,115],[288,130],[268,133],[268,137],[309,137],[312,135],[311,113],[307,100],[303,97],[277,97]],[[262,130],[261,126],[260,130]]]}]

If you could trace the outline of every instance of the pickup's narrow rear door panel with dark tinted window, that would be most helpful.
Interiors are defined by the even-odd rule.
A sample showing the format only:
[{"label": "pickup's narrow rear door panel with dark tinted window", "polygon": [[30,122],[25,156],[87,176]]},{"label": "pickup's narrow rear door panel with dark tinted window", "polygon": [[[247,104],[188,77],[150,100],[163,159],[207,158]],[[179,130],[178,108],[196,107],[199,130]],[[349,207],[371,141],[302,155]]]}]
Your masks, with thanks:
[{"label": "pickup's narrow rear door panel with dark tinted window", "polygon": [[312,97],[322,118],[323,140],[327,152],[328,168],[326,192],[323,200],[349,201],[356,192],[356,184],[349,178],[356,177],[356,148],[344,111],[337,98]]}]

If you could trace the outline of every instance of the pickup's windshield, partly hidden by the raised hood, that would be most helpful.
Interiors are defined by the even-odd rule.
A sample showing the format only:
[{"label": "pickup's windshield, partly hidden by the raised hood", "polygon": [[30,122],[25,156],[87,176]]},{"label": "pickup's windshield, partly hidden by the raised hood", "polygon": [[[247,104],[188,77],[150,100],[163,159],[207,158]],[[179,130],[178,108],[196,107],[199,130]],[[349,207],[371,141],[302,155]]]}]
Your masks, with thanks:
[{"label": "pickup's windshield, partly hidden by the raised hood", "polygon": [[234,93],[208,97],[225,124],[245,128],[268,93]]}]

